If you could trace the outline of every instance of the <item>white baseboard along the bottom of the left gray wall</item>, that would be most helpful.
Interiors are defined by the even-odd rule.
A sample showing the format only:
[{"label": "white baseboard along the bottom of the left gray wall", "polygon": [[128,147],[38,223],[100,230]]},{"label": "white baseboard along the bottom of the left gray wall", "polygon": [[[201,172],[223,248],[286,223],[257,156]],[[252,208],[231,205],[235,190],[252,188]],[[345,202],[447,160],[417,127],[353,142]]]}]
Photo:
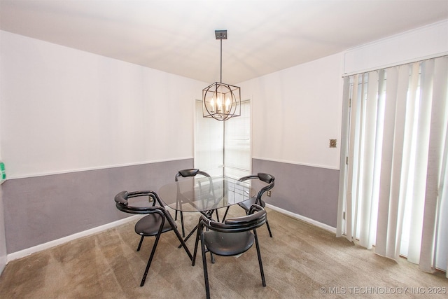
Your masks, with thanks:
[{"label": "white baseboard along the bottom of the left gray wall", "polygon": [[133,221],[134,219],[139,217],[142,217],[142,215],[133,215],[127,218],[120,219],[118,221],[113,221],[111,223],[97,226],[96,228],[91,228],[90,230],[84,230],[83,232],[77,232],[76,234],[73,235],[62,237],[60,239],[55,239],[50,242],[46,242],[33,247],[29,247],[27,249],[23,249],[21,251],[9,253],[8,256],[6,257],[6,263],[9,263],[11,260],[17,260],[18,258],[24,258],[25,256],[29,256],[31,253],[36,253],[38,251],[43,251],[45,249],[49,249],[51,247],[64,244],[66,242],[73,241],[74,239],[78,239],[80,237],[86,237],[88,235],[96,234],[97,232],[102,232],[103,230],[108,230],[109,228],[114,228],[118,225],[122,225],[129,221]]}]

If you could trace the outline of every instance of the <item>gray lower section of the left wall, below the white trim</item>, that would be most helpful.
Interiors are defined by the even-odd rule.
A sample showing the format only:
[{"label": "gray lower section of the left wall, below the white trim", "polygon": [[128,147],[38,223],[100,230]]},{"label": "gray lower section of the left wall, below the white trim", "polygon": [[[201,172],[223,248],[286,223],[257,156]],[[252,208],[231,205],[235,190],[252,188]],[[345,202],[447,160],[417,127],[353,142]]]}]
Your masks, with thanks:
[{"label": "gray lower section of the left wall, below the white trim", "polygon": [[96,169],[3,183],[6,251],[13,253],[130,216],[113,198],[122,190],[154,190],[174,181],[193,159]]}]

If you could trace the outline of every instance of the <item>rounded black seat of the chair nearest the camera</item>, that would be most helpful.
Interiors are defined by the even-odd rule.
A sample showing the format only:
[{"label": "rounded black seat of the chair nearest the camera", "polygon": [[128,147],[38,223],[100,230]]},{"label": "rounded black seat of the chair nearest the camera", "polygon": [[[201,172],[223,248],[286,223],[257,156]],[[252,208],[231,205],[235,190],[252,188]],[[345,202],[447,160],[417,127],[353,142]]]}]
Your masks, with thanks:
[{"label": "rounded black seat of the chair nearest the camera", "polygon": [[204,232],[204,244],[207,249],[218,256],[236,256],[251,248],[253,233],[246,232]]}]

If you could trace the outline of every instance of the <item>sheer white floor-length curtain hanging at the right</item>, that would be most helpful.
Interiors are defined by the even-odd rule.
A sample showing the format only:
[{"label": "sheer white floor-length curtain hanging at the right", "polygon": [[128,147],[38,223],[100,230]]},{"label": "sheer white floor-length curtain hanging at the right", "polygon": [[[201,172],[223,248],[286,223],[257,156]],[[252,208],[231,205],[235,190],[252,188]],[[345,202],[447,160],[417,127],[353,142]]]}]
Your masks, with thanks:
[{"label": "sheer white floor-length curtain hanging at the right", "polygon": [[447,269],[448,57],[344,78],[337,235]]}]

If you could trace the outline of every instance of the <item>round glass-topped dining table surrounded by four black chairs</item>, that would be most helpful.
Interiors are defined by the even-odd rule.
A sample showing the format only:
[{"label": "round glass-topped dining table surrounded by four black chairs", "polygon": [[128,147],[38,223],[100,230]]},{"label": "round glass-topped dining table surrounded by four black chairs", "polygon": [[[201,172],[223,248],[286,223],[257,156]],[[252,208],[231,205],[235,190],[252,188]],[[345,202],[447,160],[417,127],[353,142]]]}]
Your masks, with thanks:
[{"label": "round glass-topped dining table surrounded by four black chairs", "polygon": [[[256,190],[247,182],[228,176],[193,176],[167,183],[159,189],[158,195],[166,206],[176,211],[200,212],[211,218],[216,209],[249,200],[256,195]],[[196,228],[188,234],[185,241],[195,230]]]}]

